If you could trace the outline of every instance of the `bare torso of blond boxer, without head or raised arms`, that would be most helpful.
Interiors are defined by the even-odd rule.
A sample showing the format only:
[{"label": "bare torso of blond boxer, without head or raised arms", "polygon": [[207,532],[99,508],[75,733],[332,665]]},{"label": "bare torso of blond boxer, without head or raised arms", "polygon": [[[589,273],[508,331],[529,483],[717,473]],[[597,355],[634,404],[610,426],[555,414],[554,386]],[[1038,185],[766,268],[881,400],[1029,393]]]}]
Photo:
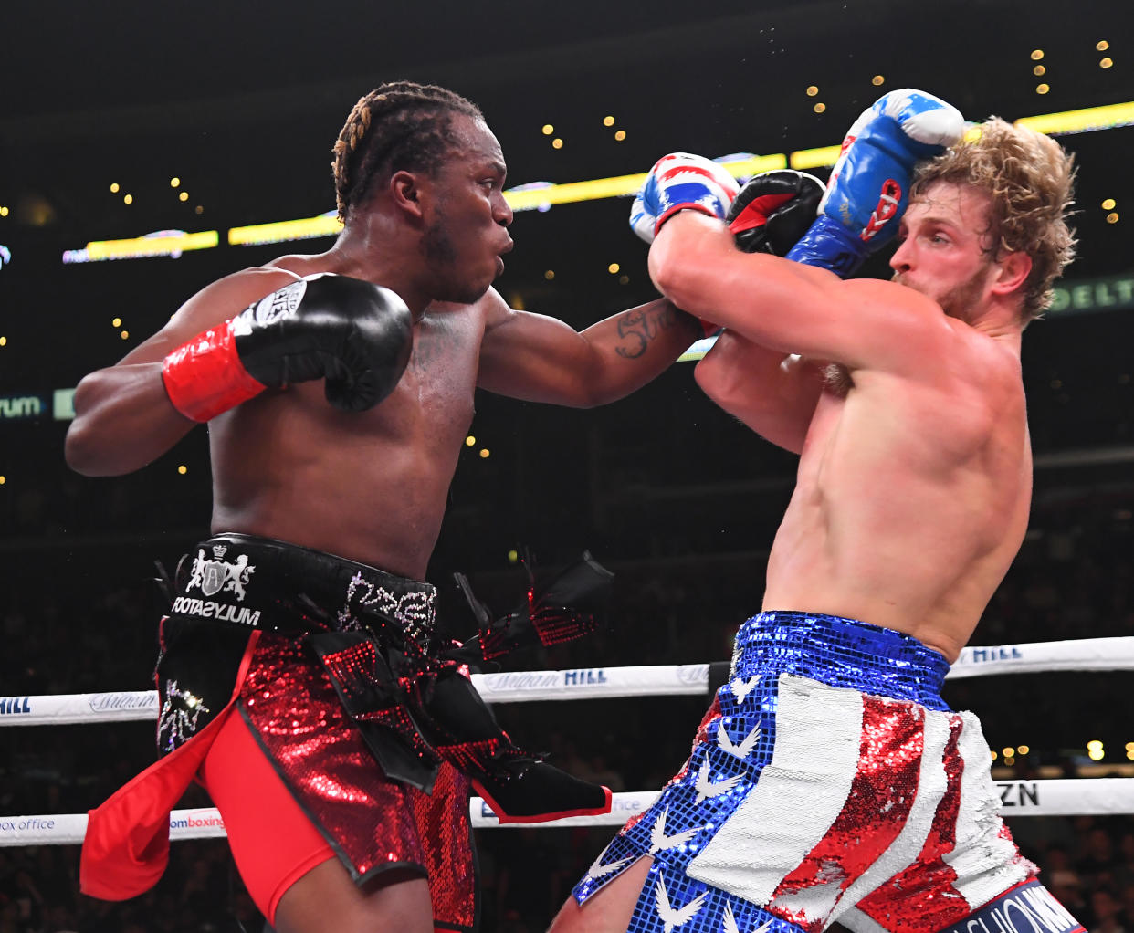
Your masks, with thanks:
[{"label": "bare torso of blond boxer, without head or raised arms", "polygon": [[[755,426],[744,399],[759,371],[741,342],[711,353],[697,380]],[[820,390],[763,609],[861,619],[956,659],[1019,549],[1032,483],[1017,353],[976,333],[954,346],[956,368],[856,371],[845,396]]]}]

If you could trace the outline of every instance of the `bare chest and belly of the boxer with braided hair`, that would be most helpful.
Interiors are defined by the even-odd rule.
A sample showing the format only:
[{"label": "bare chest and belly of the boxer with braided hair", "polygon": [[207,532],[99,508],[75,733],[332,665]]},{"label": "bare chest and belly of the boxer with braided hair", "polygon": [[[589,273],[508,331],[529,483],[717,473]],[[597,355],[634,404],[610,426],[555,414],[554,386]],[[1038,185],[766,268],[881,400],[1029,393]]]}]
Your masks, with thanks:
[{"label": "bare chest and belly of the boxer with braided hair", "polygon": [[[281,264],[319,271],[296,257]],[[319,381],[214,418],[213,532],[289,541],[424,578],[473,419],[488,304],[426,308],[414,322],[405,374],[370,410],[332,408]]]}]

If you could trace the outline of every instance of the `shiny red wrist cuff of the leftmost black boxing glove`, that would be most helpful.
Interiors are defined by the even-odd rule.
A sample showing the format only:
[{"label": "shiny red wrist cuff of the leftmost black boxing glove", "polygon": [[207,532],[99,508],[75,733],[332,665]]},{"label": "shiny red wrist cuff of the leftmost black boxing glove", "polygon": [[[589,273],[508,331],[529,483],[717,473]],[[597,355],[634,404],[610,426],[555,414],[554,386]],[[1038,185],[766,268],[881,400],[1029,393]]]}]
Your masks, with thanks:
[{"label": "shiny red wrist cuff of the leftmost black boxing glove", "polygon": [[166,395],[192,421],[206,422],[266,388],[240,363],[231,324],[226,321],[202,331],[161,364]]}]

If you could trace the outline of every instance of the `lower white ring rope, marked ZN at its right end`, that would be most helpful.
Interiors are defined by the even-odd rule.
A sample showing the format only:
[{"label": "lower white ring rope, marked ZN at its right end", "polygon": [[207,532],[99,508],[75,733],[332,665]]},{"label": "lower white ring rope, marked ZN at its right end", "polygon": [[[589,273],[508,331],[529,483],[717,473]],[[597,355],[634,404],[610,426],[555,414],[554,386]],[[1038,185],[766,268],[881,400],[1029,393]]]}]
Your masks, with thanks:
[{"label": "lower white ring rope, marked ZN at its right end", "polygon": [[[1000,789],[1001,815],[1008,817],[1134,813],[1134,778],[997,781],[996,783]],[[610,813],[600,816],[568,816],[535,825],[620,826],[634,814],[646,809],[659,792],[638,790],[615,794]],[[500,828],[499,821],[480,797],[469,800],[468,811],[475,829]],[[516,825],[509,823],[503,829]],[[85,813],[0,816],[0,847],[78,845],[85,833]],[[214,807],[175,809],[169,815],[169,838],[174,841],[220,839],[223,836],[225,822]]]}]

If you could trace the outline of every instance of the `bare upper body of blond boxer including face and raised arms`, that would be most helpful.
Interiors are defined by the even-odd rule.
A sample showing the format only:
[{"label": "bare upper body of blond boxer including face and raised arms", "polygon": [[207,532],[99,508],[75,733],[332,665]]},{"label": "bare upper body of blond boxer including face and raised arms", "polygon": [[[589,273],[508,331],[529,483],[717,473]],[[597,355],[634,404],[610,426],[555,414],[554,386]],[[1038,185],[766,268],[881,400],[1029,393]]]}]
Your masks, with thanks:
[{"label": "bare upper body of blond boxer including face and raised arms", "polygon": [[[985,204],[943,183],[912,204],[897,282],[745,256],[727,231],[675,218],[679,238],[663,249],[683,251],[688,271],[667,294],[730,329],[697,381],[801,453],[764,610],[861,619],[953,661],[1015,557],[1032,464],[1023,324],[1004,283],[1019,270],[1012,278],[982,252]],[[659,260],[655,244],[651,266]],[[1018,254],[1016,264],[1031,268]],[[742,274],[760,289],[746,291]],[[786,353],[838,361],[843,384]]]}]

